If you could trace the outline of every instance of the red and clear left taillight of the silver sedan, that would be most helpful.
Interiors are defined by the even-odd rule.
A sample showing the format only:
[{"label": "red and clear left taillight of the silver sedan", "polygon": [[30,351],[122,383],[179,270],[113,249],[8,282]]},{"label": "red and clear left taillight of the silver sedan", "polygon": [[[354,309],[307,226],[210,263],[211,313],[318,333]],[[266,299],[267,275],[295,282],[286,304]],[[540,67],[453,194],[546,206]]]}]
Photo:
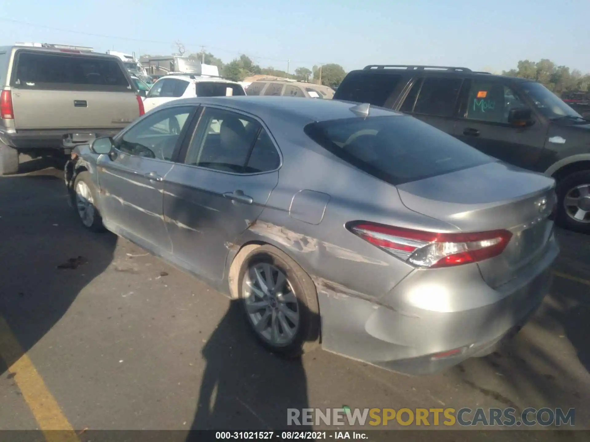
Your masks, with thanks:
[{"label": "red and clear left taillight of the silver sedan", "polygon": [[512,233],[491,230],[476,233],[437,233],[356,222],[348,229],[372,245],[425,268],[450,267],[500,255]]}]

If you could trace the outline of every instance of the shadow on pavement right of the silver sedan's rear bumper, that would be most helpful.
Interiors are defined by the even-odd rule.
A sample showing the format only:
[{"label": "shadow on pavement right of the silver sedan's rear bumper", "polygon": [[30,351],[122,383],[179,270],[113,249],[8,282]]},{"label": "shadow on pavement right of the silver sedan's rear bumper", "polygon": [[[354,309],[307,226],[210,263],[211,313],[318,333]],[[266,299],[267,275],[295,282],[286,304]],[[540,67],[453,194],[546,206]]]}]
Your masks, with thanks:
[{"label": "shadow on pavement right of the silver sedan's rear bumper", "polygon": [[[585,245],[588,239],[559,232],[563,235],[569,243],[560,240],[562,252],[556,268],[583,278],[581,269],[587,268],[590,255]],[[493,398],[503,407],[516,408],[517,413],[527,407],[575,408],[575,428],[588,429],[589,334],[588,286],[555,276],[539,311],[516,337],[487,357],[464,361],[450,376],[468,385],[476,398]],[[572,353],[579,364],[572,364]]]}]

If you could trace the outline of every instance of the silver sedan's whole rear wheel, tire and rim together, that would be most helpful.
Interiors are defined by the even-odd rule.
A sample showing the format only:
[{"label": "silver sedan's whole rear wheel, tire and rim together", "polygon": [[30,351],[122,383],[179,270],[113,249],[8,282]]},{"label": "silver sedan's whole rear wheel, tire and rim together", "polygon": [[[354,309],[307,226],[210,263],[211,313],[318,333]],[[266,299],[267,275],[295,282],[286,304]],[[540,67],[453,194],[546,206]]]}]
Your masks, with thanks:
[{"label": "silver sedan's whole rear wheel, tire and rim together", "polygon": [[[261,269],[270,269],[272,276]],[[264,282],[272,277],[274,283],[280,278],[278,272],[282,272],[284,285],[275,287],[276,290],[273,291],[270,289],[270,284],[267,284],[269,290],[266,292],[261,290],[263,288],[255,276],[256,270],[264,277]],[[245,256],[238,275],[238,293],[246,321],[254,336],[265,348],[290,359],[312,351],[319,345],[320,316],[316,286],[293,259],[273,246],[263,245],[251,250]],[[252,288],[253,284],[256,290]],[[263,301],[260,293],[267,296],[268,306],[260,307],[258,311],[255,311],[258,305],[252,303],[260,304]],[[290,312],[285,309],[289,309]],[[268,328],[260,331],[260,324],[263,324],[261,321],[264,320],[265,315],[268,315],[266,318]],[[294,318],[297,318],[296,327],[293,327]],[[256,322],[257,319],[258,322]],[[281,342],[279,342],[280,339],[273,339],[273,319],[276,324],[276,337],[284,339]],[[281,331],[282,337],[279,336]]]}]

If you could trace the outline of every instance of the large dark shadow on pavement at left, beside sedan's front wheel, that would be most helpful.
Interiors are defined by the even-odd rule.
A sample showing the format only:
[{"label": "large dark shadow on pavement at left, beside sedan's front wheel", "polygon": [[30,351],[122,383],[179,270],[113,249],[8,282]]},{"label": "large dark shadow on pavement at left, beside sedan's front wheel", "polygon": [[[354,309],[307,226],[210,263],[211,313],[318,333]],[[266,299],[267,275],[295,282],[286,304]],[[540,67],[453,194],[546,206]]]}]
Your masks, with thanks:
[{"label": "large dark shadow on pavement at left, beside sedan's front wheel", "polygon": [[[67,204],[61,175],[47,169],[0,177],[0,374],[60,321],[112,260],[116,236],[84,229]],[[58,268],[68,262],[74,264]]]}]

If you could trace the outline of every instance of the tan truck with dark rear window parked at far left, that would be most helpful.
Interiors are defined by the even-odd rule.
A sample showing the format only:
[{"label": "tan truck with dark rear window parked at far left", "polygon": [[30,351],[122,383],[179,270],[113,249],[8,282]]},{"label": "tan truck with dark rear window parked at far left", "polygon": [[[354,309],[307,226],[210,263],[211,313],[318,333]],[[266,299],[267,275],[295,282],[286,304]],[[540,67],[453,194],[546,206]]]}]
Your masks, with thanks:
[{"label": "tan truck with dark rear window parked at far left", "polygon": [[91,48],[0,47],[0,90],[0,175],[18,171],[19,153],[69,153],[143,114],[121,60]]}]

